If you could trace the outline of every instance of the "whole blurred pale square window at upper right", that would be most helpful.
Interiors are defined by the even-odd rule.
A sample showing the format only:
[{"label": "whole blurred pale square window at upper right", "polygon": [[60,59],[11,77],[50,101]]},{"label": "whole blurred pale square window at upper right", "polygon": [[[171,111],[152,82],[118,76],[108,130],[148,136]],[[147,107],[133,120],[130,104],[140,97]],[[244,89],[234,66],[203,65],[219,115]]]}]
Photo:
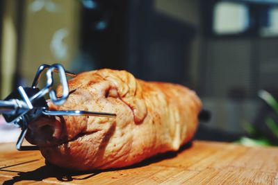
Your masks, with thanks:
[{"label": "whole blurred pale square window at upper right", "polygon": [[238,34],[250,25],[249,9],[243,3],[219,2],[213,10],[213,32],[217,35]]}]

